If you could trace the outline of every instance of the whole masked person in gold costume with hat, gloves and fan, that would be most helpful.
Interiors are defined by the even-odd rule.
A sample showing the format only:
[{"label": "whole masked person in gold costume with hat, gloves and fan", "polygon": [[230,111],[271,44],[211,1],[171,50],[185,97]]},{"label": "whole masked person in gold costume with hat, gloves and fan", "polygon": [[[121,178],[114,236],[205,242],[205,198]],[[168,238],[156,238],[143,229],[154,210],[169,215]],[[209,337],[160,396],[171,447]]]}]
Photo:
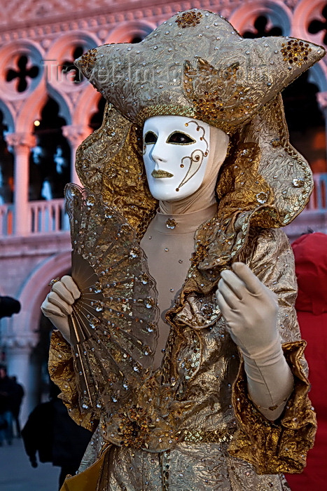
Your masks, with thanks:
[{"label": "whole masked person in gold costume with hat, gloves and fan", "polygon": [[50,375],[95,430],[64,490],[284,490],[315,418],[279,229],[312,191],[280,91],[322,58],[174,15],[76,65],[108,101],[67,187],[72,278],[43,312]]}]

